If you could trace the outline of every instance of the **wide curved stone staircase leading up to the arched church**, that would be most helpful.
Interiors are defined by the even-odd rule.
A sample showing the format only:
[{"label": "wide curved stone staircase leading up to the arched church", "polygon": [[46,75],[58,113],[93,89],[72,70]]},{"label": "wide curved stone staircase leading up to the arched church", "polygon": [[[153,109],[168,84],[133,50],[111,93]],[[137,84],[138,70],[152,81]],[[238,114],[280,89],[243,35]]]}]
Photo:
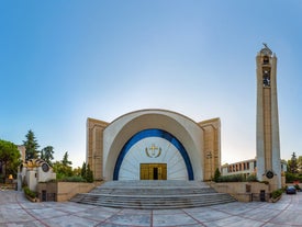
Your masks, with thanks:
[{"label": "wide curved stone staircase leading up to the arched church", "polygon": [[200,181],[109,181],[72,202],[99,206],[165,209],[210,206],[236,200]]}]

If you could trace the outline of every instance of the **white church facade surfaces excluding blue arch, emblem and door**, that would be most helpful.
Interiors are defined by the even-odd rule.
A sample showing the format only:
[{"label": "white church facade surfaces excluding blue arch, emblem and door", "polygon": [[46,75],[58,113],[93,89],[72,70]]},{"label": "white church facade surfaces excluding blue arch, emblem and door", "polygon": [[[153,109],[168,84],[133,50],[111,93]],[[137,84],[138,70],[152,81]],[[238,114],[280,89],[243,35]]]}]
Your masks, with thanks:
[{"label": "white church facade surfaces excluding blue arch, emblem and door", "polygon": [[[193,171],[193,180],[203,180],[203,130],[183,115],[163,110],[143,110],[132,112],[111,123],[103,133],[103,172],[105,180],[113,180],[116,160],[123,146],[135,134],[156,128],[169,132],[188,152]],[[161,149],[158,157],[150,157],[146,148],[156,146]],[[179,148],[160,137],[145,137],[135,143],[123,157],[119,180],[138,180],[139,163],[167,163],[167,179],[188,179],[187,166]],[[187,161],[188,162],[188,161]]]}]

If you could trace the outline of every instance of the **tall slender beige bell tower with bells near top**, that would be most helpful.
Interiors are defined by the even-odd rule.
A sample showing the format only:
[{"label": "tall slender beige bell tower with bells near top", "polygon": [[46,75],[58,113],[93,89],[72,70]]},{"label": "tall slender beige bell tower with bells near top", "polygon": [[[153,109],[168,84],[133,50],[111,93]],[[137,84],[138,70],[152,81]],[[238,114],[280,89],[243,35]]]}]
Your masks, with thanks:
[{"label": "tall slender beige bell tower with bells near top", "polygon": [[257,178],[271,190],[281,188],[281,160],[277,99],[277,57],[267,44],[256,57],[257,73]]}]

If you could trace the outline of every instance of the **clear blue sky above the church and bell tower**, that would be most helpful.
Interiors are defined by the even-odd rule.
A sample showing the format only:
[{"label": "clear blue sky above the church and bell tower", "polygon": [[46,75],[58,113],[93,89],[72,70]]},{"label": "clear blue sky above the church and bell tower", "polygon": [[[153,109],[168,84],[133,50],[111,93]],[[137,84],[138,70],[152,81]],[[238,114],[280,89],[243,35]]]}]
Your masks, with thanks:
[{"label": "clear blue sky above the church and bell tower", "polygon": [[0,2],[0,138],[86,161],[86,121],[220,117],[222,164],[256,156],[256,55],[278,57],[281,158],[302,156],[302,2]]}]

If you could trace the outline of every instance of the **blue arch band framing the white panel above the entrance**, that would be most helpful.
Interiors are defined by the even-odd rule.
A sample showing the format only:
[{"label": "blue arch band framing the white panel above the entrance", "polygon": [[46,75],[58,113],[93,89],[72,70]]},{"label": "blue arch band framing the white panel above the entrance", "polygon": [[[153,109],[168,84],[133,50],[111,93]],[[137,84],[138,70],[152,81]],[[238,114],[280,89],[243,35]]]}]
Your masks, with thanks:
[{"label": "blue arch band framing the white panel above the entrance", "polygon": [[124,147],[122,148],[115,167],[114,167],[114,172],[113,172],[113,180],[116,181],[119,180],[119,172],[120,172],[120,168],[122,166],[123,159],[125,158],[126,154],[128,152],[130,148],[135,145],[137,141],[139,141],[141,139],[147,138],[147,137],[160,137],[164,139],[167,139],[168,141],[170,141],[181,154],[186,167],[187,167],[187,172],[188,172],[188,179],[190,181],[194,180],[194,174],[193,174],[193,168],[190,161],[190,158],[188,156],[187,150],[184,149],[184,147],[182,146],[182,144],[170,133],[163,130],[163,129],[158,129],[158,128],[148,128],[148,129],[144,129],[138,132],[137,134],[135,134],[133,137],[131,137],[127,143],[124,145]]}]

